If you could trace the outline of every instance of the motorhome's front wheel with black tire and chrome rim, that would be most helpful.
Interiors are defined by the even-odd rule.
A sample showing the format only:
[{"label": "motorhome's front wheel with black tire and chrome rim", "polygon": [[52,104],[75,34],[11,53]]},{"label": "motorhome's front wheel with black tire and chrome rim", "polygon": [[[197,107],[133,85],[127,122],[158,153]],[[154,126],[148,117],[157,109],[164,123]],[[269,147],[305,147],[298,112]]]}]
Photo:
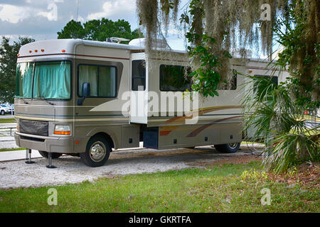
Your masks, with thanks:
[{"label": "motorhome's front wheel with black tire and chrome rim", "polygon": [[111,153],[107,139],[101,135],[90,138],[85,153],[80,153],[82,162],[89,167],[105,165]]}]

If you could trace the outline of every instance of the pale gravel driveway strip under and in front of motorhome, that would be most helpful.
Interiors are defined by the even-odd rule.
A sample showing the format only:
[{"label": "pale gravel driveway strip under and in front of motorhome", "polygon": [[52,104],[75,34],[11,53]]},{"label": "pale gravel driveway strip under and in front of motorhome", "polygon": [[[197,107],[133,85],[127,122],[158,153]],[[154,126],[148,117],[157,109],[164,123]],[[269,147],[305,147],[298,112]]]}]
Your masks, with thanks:
[{"label": "pale gravel driveway strip under and in front of motorhome", "polygon": [[35,159],[33,165],[25,164],[24,160],[0,162],[0,189],[92,182],[100,177],[203,167],[207,162],[243,155],[251,155],[246,147],[235,154],[222,154],[207,146],[193,150],[123,150],[111,153],[107,164],[97,168],[87,167],[79,157],[71,156],[53,160],[56,169],[47,169],[48,160],[44,158]]}]

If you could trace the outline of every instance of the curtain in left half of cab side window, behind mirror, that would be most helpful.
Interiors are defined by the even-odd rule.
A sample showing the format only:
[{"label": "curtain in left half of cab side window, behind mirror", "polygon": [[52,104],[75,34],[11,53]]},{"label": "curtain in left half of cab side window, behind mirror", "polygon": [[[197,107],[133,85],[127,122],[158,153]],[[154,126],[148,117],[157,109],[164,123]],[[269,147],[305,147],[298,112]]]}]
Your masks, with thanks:
[{"label": "curtain in left half of cab side window, behind mirror", "polygon": [[97,66],[79,66],[79,96],[82,96],[82,84],[90,83],[90,96],[97,97]]}]

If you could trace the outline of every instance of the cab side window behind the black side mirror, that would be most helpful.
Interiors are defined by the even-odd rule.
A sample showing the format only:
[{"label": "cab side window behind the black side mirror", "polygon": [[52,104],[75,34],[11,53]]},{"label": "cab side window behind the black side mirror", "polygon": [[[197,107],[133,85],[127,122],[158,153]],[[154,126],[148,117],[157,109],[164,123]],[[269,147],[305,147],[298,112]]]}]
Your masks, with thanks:
[{"label": "cab side window behind the black side mirror", "polygon": [[117,96],[117,68],[98,65],[78,66],[78,95],[82,96],[82,84],[90,83],[90,96],[114,98]]}]

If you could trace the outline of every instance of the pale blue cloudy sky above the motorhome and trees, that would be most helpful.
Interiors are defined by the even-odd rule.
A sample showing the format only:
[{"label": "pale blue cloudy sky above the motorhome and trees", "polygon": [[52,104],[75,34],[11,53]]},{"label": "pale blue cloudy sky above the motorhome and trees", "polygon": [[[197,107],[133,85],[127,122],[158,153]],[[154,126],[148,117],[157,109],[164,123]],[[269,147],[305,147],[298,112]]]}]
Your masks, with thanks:
[{"label": "pale blue cloudy sky above the motorhome and trees", "polygon": [[[187,0],[181,1],[181,6]],[[79,3],[79,9],[78,9]],[[71,19],[85,22],[102,17],[129,21],[138,28],[134,0],[0,0],[0,35],[16,40],[19,35],[36,40],[55,39]],[[169,29],[171,48],[183,50],[183,40]]]}]

